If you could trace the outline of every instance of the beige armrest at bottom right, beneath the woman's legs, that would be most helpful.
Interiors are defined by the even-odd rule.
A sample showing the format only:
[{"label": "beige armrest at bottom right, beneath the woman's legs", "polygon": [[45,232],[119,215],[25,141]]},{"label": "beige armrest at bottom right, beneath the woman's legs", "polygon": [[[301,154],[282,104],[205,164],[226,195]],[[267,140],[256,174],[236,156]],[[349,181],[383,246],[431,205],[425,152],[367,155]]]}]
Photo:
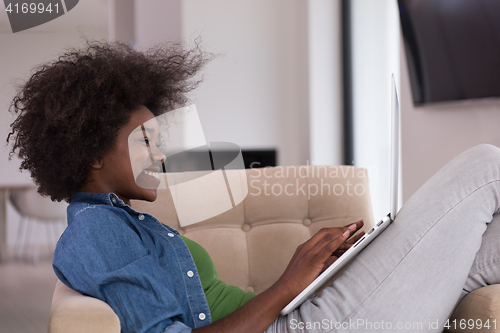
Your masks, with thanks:
[{"label": "beige armrest at bottom right, beneath the woman's legs", "polygon": [[[467,326],[467,322],[470,319],[474,320],[475,323],[478,321],[483,325],[489,320],[490,328],[477,328],[476,324],[474,324],[474,329],[460,328],[461,322]],[[454,320],[456,320],[457,327],[453,327],[455,326]],[[499,333],[500,284],[493,284],[491,286],[476,289],[465,296],[458,304],[455,312],[453,312],[450,324],[453,324],[452,327],[449,328],[449,332],[452,333]]]}]

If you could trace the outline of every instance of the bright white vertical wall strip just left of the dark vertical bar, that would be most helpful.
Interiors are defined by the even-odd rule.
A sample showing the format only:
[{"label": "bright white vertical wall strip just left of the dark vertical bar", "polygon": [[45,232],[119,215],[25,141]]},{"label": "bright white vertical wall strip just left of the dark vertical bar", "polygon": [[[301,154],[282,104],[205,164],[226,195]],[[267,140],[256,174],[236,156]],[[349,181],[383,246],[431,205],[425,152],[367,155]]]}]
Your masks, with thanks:
[{"label": "bright white vertical wall strip just left of the dark vertical bar", "polygon": [[344,164],[341,1],[310,0],[308,13],[311,164],[340,165]]}]

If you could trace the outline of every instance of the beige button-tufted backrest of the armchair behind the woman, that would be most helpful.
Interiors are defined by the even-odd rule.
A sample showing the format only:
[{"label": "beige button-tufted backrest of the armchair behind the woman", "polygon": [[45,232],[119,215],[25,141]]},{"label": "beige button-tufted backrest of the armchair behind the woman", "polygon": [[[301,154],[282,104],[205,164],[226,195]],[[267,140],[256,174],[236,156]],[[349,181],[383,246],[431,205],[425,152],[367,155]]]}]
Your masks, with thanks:
[{"label": "beige button-tufted backrest of the armchair behind the woman", "polygon": [[226,172],[228,179],[239,179],[236,183],[243,183],[246,172],[248,195],[233,209],[203,222],[182,228],[166,190],[158,191],[154,203],[133,201],[132,207],[202,245],[219,278],[246,291],[260,293],[270,287],[297,246],[322,227],[360,219],[366,230],[373,225],[365,169],[303,166]]}]

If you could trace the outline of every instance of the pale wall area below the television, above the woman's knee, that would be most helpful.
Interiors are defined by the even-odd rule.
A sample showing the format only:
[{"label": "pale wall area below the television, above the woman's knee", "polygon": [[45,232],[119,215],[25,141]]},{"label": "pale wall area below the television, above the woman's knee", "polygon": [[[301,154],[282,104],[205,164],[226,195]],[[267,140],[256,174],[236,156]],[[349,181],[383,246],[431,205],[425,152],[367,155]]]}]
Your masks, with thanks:
[{"label": "pale wall area below the television, above the woman's knee", "polygon": [[413,106],[403,47],[401,108],[404,201],[461,152],[480,143],[500,146],[500,100]]}]

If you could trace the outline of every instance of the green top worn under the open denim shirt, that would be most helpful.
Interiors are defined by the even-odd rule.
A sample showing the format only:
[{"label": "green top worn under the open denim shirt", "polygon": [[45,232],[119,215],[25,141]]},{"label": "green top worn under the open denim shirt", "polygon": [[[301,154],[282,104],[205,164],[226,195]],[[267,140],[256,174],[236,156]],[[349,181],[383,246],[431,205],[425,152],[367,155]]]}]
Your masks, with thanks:
[{"label": "green top worn under the open denim shirt", "polygon": [[228,286],[217,278],[217,270],[208,252],[198,243],[180,236],[191,252],[198,269],[201,285],[207,298],[212,322],[230,315],[255,297],[252,292],[245,292],[236,286]]}]

